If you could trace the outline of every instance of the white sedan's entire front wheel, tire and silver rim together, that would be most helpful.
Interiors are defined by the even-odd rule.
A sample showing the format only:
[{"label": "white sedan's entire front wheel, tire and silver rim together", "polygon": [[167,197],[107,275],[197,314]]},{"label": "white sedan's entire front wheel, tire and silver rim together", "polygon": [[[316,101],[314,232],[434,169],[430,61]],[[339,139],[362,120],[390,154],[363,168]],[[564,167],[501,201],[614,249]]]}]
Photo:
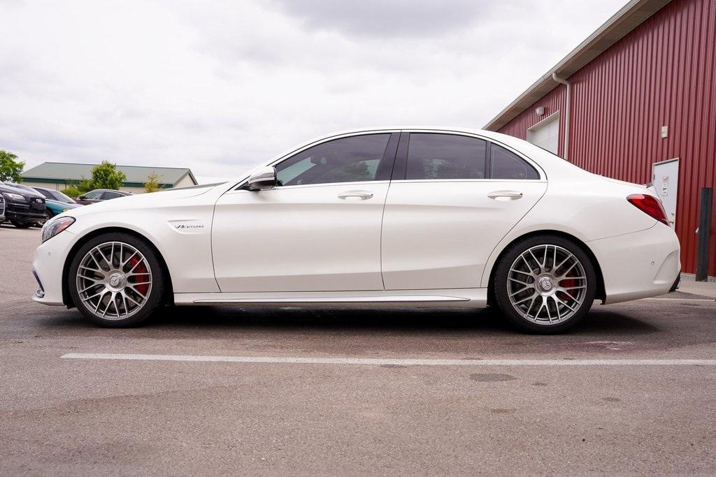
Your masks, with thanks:
[{"label": "white sedan's entire front wheel, tire and silver rim together", "polygon": [[146,242],[109,233],[80,247],[67,286],[84,316],[117,328],[137,325],[162,304],[164,277],[155,251]]}]

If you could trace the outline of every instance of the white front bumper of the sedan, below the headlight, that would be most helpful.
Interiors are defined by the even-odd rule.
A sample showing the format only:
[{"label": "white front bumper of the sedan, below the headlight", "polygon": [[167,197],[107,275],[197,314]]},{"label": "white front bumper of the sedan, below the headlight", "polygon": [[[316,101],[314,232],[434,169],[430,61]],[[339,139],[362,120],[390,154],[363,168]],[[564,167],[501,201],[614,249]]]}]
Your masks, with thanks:
[{"label": "white front bumper of the sedan, below the headlight", "polygon": [[[64,305],[62,301],[62,271],[64,261],[77,235],[64,230],[37,247],[32,261],[33,274],[39,288],[32,300],[44,305]],[[42,289],[42,292],[40,290]]]}]

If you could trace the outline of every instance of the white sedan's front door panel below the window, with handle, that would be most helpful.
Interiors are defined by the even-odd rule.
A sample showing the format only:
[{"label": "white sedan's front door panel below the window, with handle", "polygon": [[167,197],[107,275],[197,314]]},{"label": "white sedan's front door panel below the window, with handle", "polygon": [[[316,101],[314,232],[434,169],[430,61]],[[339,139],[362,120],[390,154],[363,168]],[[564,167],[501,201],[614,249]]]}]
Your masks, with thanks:
[{"label": "white sedan's front door panel below the window, with handle", "polygon": [[226,193],[211,230],[221,291],[382,290],[387,190],[375,181]]}]

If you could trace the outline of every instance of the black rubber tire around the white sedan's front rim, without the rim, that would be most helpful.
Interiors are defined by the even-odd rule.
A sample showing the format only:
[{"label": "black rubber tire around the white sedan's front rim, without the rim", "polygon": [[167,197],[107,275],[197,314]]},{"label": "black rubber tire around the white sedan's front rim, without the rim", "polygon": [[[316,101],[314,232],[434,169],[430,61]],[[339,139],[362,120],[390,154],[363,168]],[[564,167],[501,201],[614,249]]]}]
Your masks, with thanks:
[{"label": "black rubber tire around the white sedan's front rim, without the rim", "polygon": [[[148,295],[145,300],[142,300],[142,307],[135,314],[130,315],[128,318],[115,318],[107,319],[95,315],[95,312],[89,310],[82,299],[79,297],[79,290],[77,290],[77,270],[83,257],[97,245],[102,245],[107,242],[122,242],[123,244],[130,245],[138,250],[146,259],[149,271],[151,274],[151,287],[148,291]],[[112,249],[114,250],[114,249]],[[101,325],[107,328],[126,328],[130,326],[138,325],[143,321],[147,320],[154,311],[163,305],[163,295],[165,290],[165,276],[163,267],[160,264],[157,252],[150,247],[150,245],[134,235],[122,233],[122,232],[110,232],[107,234],[98,235],[87,241],[72,257],[72,263],[69,267],[69,274],[67,275],[67,289],[69,295],[72,297],[72,302],[77,307],[77,310],[82,313],[86,318],[91,320],[97,325]],[[104,297],[102,297],[103,299]],[[107,299],[107,302],[111,300]],[[120,302],[121,303],[121,302]],[[117,310],[117,303],[115,303],[115,310]],[[117,310],[117,315],[120,315],[120,310]]]}]

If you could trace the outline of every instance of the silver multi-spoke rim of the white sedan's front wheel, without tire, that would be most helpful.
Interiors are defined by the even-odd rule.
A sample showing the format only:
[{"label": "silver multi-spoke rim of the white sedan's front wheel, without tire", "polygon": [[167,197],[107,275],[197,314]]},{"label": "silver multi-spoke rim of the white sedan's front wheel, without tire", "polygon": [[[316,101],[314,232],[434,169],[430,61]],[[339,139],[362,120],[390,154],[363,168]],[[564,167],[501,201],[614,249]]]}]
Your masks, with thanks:
[{"label": "silver multi-spoke rim of the white sedan's front wheel, without tire", "polygon": [[142,252],[124,242],[89,250],[77,268],[77,294],[84,308],[105,320],[138,313],[152,292],[152,269]]}]

